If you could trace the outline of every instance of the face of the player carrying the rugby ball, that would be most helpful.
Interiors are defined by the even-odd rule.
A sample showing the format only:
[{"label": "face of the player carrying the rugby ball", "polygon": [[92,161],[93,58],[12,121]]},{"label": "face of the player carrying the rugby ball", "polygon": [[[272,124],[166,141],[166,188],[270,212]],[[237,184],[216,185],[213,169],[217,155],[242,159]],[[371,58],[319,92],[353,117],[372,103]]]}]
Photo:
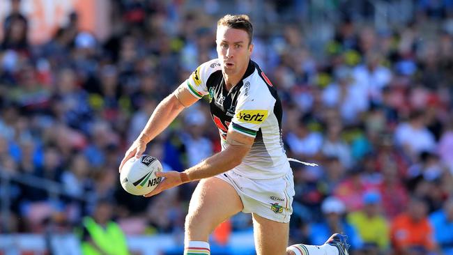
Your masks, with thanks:
[{"label": "face of the player carrying the rugby ball", "polygon": [[252,54],[253,45],[249,44],[249,36],[242,29],[231,29],[217,26],[217,54],[222,70],[227,75],[245,72]]}]

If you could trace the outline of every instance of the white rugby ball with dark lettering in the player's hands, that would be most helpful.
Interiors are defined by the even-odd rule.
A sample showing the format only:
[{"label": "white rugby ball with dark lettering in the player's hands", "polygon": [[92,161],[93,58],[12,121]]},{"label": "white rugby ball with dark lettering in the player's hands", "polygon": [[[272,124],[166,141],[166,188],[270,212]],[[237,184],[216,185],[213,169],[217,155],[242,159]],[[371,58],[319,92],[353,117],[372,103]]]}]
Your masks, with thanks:
[{"label": "white rugby ball with dark lettering in the player's hands", "polygon": [[155,157],[141,155],[130,158],[121,169],[120,182],[123,189],[130,194],[142,196],[152,192],[162,177],[155,173],[162,171],[162,164]]}]

